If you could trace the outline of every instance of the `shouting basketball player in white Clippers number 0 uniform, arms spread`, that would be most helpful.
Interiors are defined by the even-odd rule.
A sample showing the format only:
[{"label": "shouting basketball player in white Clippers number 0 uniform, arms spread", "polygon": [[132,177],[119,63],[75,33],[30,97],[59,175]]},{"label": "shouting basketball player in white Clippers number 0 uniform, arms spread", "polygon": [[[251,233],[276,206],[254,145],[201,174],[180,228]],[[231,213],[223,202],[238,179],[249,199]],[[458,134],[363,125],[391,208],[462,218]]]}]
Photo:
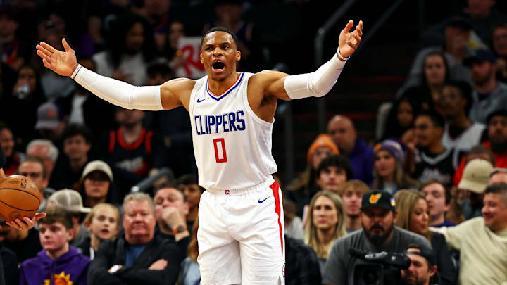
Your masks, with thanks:
[{"label": "shouting basketball player in white Clippers number 0 uniform, arms spread", "polygon": [[327,94],[361,43],[362,21],[350,32],[352,27],[350,20],[330,61],[315,72],[290,76],[237,72],[237,39],[223,27],[212,28],[202,39],[207,76],[161,86],[134,87],[97,75],[77,64],[65,39],[65,52],[41,42],[37,55],[46,68],[123,108],[184,106],[190,113],[199,185],[207,190],[199,204],[197,234],[202,284],[284,284],[282,194],[271,176],[277,171],[271,156],[277,99]]}]

